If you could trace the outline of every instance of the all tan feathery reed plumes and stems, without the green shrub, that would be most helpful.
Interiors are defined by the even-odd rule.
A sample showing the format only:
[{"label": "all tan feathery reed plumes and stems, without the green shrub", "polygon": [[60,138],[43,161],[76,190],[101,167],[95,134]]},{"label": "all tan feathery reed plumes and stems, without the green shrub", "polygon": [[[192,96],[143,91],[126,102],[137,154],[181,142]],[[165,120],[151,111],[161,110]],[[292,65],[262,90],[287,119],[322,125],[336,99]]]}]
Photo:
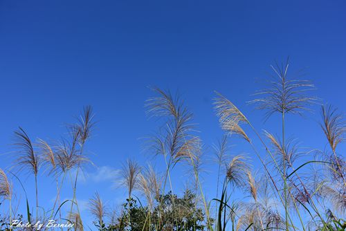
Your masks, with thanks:
[{"label": "all tan feathery reed plumes and stems, without the green shrub", "polygon": [[[232,230],[298,230],[297,225],[295,225],[295,219],[297,218],[295,216],[297,215],[302,223],[302,230],[307,229],[304,224],[307,219],[311,219],[307,224],[308,228],[314,227],[319,230],[328,230],[329,228],[329,230],[333,230],[334,227],[330,228],[333,223],[339,223],[339,226],[343,228],[345,227],[343,220],[337,218],[338,213],[343,216],[346,210],[346,163],[337,149],[338,145],[345,139],[343,115],[333,107],[322,106],[320,126],[323,133],[325,133],[331,151],[325,151],[325,154],[322,155],[320,153],[316,154],[318,157],[322,156],[323,161],[307,160],[299,163],[302,154],[301,149],[298,149],[295,140],[286,139],[285,120],[287,114],[301,114],[302,111],[309,109],[310,104],[315,102],[316,98],[307,95],[307,91],[313,89],[313,84],[307,80],[291,80],[288,77],[288,62],[282,64],[282,66],[271,66],[271,68],[274,75],[271,80],[268,80],[268,88],[255,93],[258,98],[251,101],[257,104],[257,109],[266,111],[266,119],[274,113],[282,116],[282,136],[274,136],[273,133],[264,132],[264,136],[270,143],[268,145],[270,148],[266,145],[267,141],[264,142],[260,133],[257,133],[242,111],[224,95],[217,93],[214,108],[219,117],[221,129],[226,131],[226,134],[215,150],[218,165],[217,198],[214,199],[218,205],[215,215],[215,228],[217,231],[228,230],[230,229],[228,222],[231,222]],[[154,150],[154,154],[163,156],[165,160],[164,176],[159,176],[154,168],[150,166],[141,169],[140,165],[134,160],[128,160],[121,171],[122,185],[127,189],[128,201],[125,203],[124,208],[128,210],[128,217],[123,215],[126,212],[121,212],[121,221],[117,221],[116,216],[111,216],[110,226],[106,226],[107,221],[104,221],[104,217],[107,216],[107,207],[105,207],[97,192],[89,201],[89,210],[98,220],[101,230],[105,227],[107,227],[105,229],[108,229],[108,227],[120,227],[121,229],[123,223],[127,223],[127,228],[134,227],[132,222],[136,223],[136,219],[134,221],[131,219],[131,210],[134,208],[142,210],[141,214],[145,216],[145,221],[140,221],[144,225],[140,226],[139,229],[174,229],[174,227],[178,228],[181,225],[182,219],[194,215],[193,211],[201,211],[198,204],[199,196],[201,196],[207,216],[206,226],[208,230],[214,230],[209,214],[210,203],[207,203],[206,198],[203,196],[200,182],[201,164],[203,163],[201,160],[203,159],[202,156],[206,154],[206,150],[201,138],[196,135],[196,126],[193,123],[192,113],[185,107],[185,103],[179,96],[172,95],[170,91],[153,90],[156,96],[149,98],[145,107],[149,117],[158,117],[158,121],[163,122],[163,126],[160,127],[157,135],[151,140],[153,149],[150,150]],[[24,129],[19,128],[15,132],[15,146],[19,154],[16,164],[19,165],[19,170],[26,170],[35,176],[36,207],[39,207],[37,176],[42,165],[47,167],[48,176],[53,175],[57,182],[55,203],[59,200],[60,190],[66,174],[70,174],[73,198],[64,201],[64,203],[71,202],[68,219],[74,224],[75,230],[83,230],[76,189],[78,172],[82,168],[82,164],[88,161],[83,149],[86,141],[93,133],[95,124],[93,117],[91,107],[84,107],[77,122],[68,127],[70,138],[63,139],[58,145],[54,146],[40,139],[36,144],[33,144]],[[247,131],[247,128],[252,129],[264,145],[266,153],[270,156],[268,160],[264,157],[262,151],[257,151],[255,148],[255,142],[250,136],[251,131]],[[237,155],[228,160],[228,139],[232,135],[237,135],[251,145],[264,169],[261,178],[251,173],[250,158],[247,156]],[[304,156],[304,158],[307,157],[309,155]],[[194,174],[194,179],[189,178],[189,182],[194,180],[194,190],[187,189],[185,192],[186,194],[193,194],[195,198],[194,203],[191,203],[193,204],[192,207],[189,207],[190,205],[186,205],[186,207],[181,205],[179,200],[184,198],[179,198],[172,192],[170,171],[180,163],[188,163],[189,171],[192,169]],[[317,163],[323,164],[323,167],[327,166],[328,172],[320,172],[319,176],[315,176],[314,172],[312,174],[308,171],[302,172],[302,167],[305,165],[311,166],[311,163],[316,163],[316,165],[313,164],[313,168],[316,167],[317,169],[316,171],[322,169],[322,167],[318,167]],[[275,171],[271,169],[273,165]],[[225,168],[224,171],[221,171],[223,170],[222,167]],[[74,170],[76,170],[76,175],[71,176],[71,173],[75,173]],[[219,195],[219,178],[221,175],[224,176],[224,185]],[[165,192],[167,181],[170,183],[171,192],[169,194]],[[5,172],[0,169],[0,196],[9,200],[10,204],[12,198],[11,186]],[[198,187],[201,192],[198,192]],[[135,202],[132,196],[135,194],[135,189],[145,198],[147,203],[143,203],[144,206],[137,208],[134,205]],[[244,198],[243,201],[237,201],[234,194],[235,190],[244,192],[244,196],[250,199]],[[170,198],[172,204],[165,207],[167,211],[163,211],[162,200],[166,195],[172,196]],[[175,200],[179,204],[176,205]],[[140,203],[142,205],[142,202]],[[280,203],[283,207],[280,207]],[[59,212],[61,212],[62,205],[58,209]],[[78,212],[73,211],[73,205],[77,205]],[[29,207],[28,202],[27,207]],[[289,208],[292,210],[289,210]],[[54,210],[55,205],[51,216],[53,216]],[[283,210],[284,212],[282,212]],[[322,210],[325,211],[321,212]],[[302,218],[301,212],[304,212],[304,215],[306,214],[309,218]],[[15,214],[15,212],[12,212],[12,208],[10,208],[10,216],[12,214]],[[30,215],[30,211],[28,211],[29,222],[37,221],[40,217],[42,219],[47,218],[44,215],[40,217],[37,215],[35,219],[31,220]],[[202,220],[204,219],[203,215],[203,212],[199,212]],[[170,224],[165,226],[163,223],[165,218],[162,216],[169,216]],[[155,221],[154,224],[152,224],[152,219]],[[194,221],[197,219],[201,221],[196,217],[193,219]],[[11,221],[12,217],[10,217],[10,223]],[[119,225],[119,223],[121,224]]]}]

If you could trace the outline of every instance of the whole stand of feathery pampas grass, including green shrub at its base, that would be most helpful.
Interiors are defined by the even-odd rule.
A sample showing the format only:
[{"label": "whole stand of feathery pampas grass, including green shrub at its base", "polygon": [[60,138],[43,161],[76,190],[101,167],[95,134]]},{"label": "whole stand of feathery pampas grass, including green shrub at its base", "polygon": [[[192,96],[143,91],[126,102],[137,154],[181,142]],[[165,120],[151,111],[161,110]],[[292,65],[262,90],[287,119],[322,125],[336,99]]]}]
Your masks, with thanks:
[{"label": "whole stand of feathery pampas grass, including green shrub at its base", "polygon": [[[102,231],[185,231],[185,227],[193,231],[345,229],[345,221],[341,218],[346,210],[346,162],[338,152],[340,143],[345,140],[343,113],[334,107],[322,106],[320,127],[327,148],[303,152],[305,149],[298,146],[296,139],[286,138],[286,115],[300,115],[309,110],[310,104],[316,102],[316,98],[309,96],[314,86],[307,80],[291,80],[288,62],[271,68],[273,76],[268,80],[268,88],[257,91],[251,103],[265,111],[265,120],[275,113],[281,115],[281,136],[271,131],[257,132],[251,120],[231,100],[216,93],[210,108],[215,110],[224,136],[214,147],[215,161],[208,158],[208,144],[201,139],[203,133],[197,131],[194,116],[185,102],[178,94],[153,88],[153,97],[145,102],[145,113],[148,118],[156,118],[158,129],[147,140],[147,150],[162,163],[158,166],[162,172],[156,172],[152,165],[142,167],[136,160],[127,160],[119,171],[121,184],[127,190],[125,203],[116,208],[108,207],[98,192],[89,199],[89,212],[95,218],[95,227]],[[57,221],[69,221],[75,230],[84,230],[86,225],[82,223],[78,206],[77,183],[84,164],[91,162],[84,149],[95,131],[92,108],[84,107],[67,129],[69,137],[60,142],[42,139],[33,142],[19,127],[15,131],[15,165],[20,172],[35,176],[36,216],[32,216],[27,199],[29,223],[55,219],[59,212]],[[236,153],[230,158],[229,147],[237,145],[239,139],[250,145],[250,153]],[[257,144],[263,145],[262,149]],[[240,153],[248,151],[243,148]],[[312,153],[315,155],[310,155]],[[260,160],[260,165],[253,163],[255,167],[251,167],[253,154]],[[310,156],[314,158],[311,160]],[[45,174],[41,174],[42,167]],[[204,171],[206,168],[211,171]],[[186,185],[185,196],[179,198],[183,191],[179,192],[176,185],[179,178],[176,177],[181,172],[188,172],[184,175],[188,177],[185,182],[193,185]],[[0,197],[10,203],[9,223],[8,215],[5,217],[8,226],[15,214],[12,210],[12,195],[15,194],[6,174],[0,169]],[[38,192],[37,179],[38,176],[41,179],[41,175],[54,178],[57,195],[53,208],[42,208],[43,213],[38,214],[38,195],[42,192]],[[19,180],[15,174],[13,176]],[[71,180],[71,199],[60,203],[66,176]],[[206,176],[208,181],[202,182]],[[206,184],[213,180],[215,188]],[[26,194],[25,183],[18,182]],[[220,182],[223,182],[222,187],[219,187]],[[209,194],[216,192],[212,200],[205,196],[206,187]],[[71,208],[62,210],[70,203]],[[215,205],[215,216],[210,214],[211,205]]]}]

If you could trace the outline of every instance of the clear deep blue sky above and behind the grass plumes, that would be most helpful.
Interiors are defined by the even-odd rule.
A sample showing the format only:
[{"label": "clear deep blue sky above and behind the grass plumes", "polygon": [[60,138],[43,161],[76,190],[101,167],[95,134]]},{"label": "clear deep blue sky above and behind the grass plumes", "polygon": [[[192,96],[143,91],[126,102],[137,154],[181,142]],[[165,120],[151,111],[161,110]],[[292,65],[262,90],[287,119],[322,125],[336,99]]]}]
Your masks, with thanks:
[{"label": "clear deep blue sky above and behind the grass plumes", "polygon": [[[258,129],[280,131],[275,116],[264,124],[264,113],[246,101],[261,88],[256,79],[287,56],[291,73],[304,68],[304,78],[316,85],[314,95],[345,111],[345,8],[345,1],[1,0],[0,167],[11,165],[18,126],[33,140],[54,140],[91,104],[98,124],[87,151],[108,172],[89,167],[78,197],[86,201],[98,190],[110,204],[118,203],[124,192],[111,189],[111,177],[100,176],[113,177],[111,171],[127,158],[143,165],[152,160],[140,141],[158,125],[144,113],[152,96],[147,86],[179,91],[210,147],[222,136],[212,111],[214,90],[233,100]],[[318,112],[291,116],[287,132],[304,147],[323,149],[318,119]],[[243,142],[232,145],[233,154],[251,155]],[[160,169],[162,162],[155,165]],[[30,187],[32,177],[22,177]],[[215,187],[213,177],[204,175],[207,192]],[[174,184],[185,178],[177,174]],[[42,176],[44,203],[52,184]]]}]

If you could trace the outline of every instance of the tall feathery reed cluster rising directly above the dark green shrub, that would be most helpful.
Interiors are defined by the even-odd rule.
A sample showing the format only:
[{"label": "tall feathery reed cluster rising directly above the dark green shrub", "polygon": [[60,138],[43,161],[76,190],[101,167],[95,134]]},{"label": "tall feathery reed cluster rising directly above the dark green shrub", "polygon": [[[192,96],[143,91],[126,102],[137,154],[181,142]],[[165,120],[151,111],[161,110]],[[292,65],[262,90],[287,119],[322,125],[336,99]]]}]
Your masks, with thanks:
[{"label": "tall feathery reed cluster rising directly above the dark green shrub", "polygon": [[[163,190],[168,178],[170,189],[173,192],[172,181],[170,178],[171,168],[181,160],[187,160],[194,170],[194,177],[199,189],[203,204],[209,220],[209,211],[206,199],[203,195],[201,183],[199,182],[198,169],[195,163],[196,154],[201,150],[201,140],[194,135],[194,125],[192,124],[192,113],[185,107],[185,104],[179,97],[173,97],[170,91],[161,89],[152,89],[157,96],[149,98],[145,107],[149,117],[157,116],[163,118],[164,127],[159,136],[153,138],[155,154],[161,154],[165,158],[166,174],[163,183]],[[174,205],[174,198],[173,198]]]}]

